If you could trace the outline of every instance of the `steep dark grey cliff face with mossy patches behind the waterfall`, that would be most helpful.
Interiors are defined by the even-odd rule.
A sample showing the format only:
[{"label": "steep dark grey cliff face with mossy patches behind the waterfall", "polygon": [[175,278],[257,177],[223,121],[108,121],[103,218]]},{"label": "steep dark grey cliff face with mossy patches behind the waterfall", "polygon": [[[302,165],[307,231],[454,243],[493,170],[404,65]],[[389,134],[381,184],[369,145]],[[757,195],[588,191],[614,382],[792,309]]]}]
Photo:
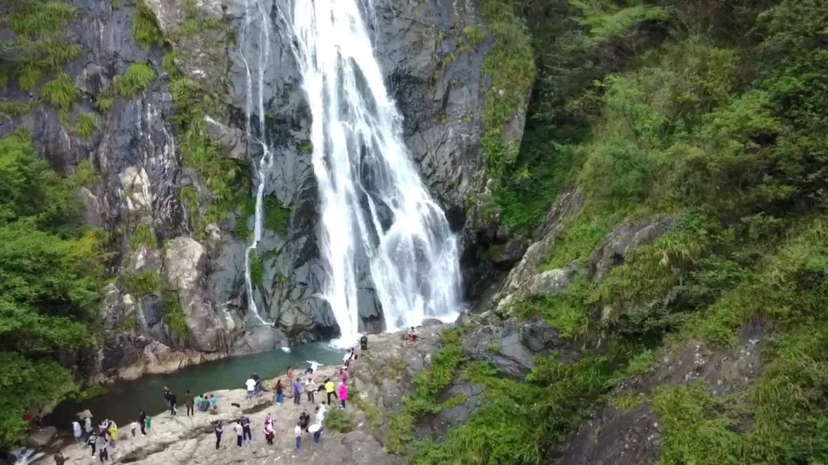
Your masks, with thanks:
[{"label": "steep dark grey cliff face with mossy patches behind the waterfall", "polygon": [[[310,112],[286,2],[121,3],[72,2],[67,41],[84,52],[62,69],[79,89],[68,114],[16,79],[0,91],[4,102],[31,103],[25,114],[3,115],[0,137],[25,127],[55,170],[69,175],[84,161],[94,170],[79,198],[89,225],[110,233],[110,269],[118,279],[106,290],[99,347],[75,357],[81,377],[134,376],[335,336],[333,312],[320,297],[327,276],[317,239]],[[493,94],[483,69],[492,39],[482,26],[479,43],[465,36],[467,26],[484,23],[474,2],[382,0],[367,16],[407,146],[431,193],[470,253],[489,243],[498,248],[482,266],[464,261],[467,292],[474,293],[517,263],[526,246],[468,205],[485,190],[479,139],[486,96]],[[133,26],[142,29],[142,41]],[[113,90],[133,65],[148,65],[156,79],[134,93]],[[512,119],[511,141],[520,139],[524,111]],[[88,137],[69,123],[81,113],[98,121]],[[204,169],[211,161],[198,148],[202,141],[243,173],[238,185]],[[263,180],[262,240],[249,252],[260,271],[248,295],[253,218],[246,204],[261,182],[263,146],[273,165]],[[175,319],[179,307],[183,318]],[[370,279],[360,284],[359,314],[364,329],[384,328]],[[267,327],[257,328],[262,321]]]}]

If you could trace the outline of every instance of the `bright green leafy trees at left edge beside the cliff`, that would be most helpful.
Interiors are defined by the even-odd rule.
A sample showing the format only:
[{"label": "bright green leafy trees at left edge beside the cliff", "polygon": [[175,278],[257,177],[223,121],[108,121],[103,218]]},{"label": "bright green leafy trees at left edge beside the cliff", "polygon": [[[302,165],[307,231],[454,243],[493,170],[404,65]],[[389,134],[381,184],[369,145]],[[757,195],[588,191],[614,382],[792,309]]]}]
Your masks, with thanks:
[{"label": "bright green leafy trees at left edge beside the cliff", "polygon": [[0,160],[0,448],[9,448],[27,431],[27,408],[76,391],[56,360],[94,344],[107,256],[103,235],[82,228],[77,181],[55,175],[26,132],[0,139]]}]

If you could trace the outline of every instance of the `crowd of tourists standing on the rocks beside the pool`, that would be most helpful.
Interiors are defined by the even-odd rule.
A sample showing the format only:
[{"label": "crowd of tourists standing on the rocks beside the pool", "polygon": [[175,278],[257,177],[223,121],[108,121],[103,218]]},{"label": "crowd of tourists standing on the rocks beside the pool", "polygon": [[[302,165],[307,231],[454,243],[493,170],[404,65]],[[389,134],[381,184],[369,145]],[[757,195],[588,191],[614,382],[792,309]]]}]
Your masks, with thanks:
[{"label": "crowd of tourists standing on the rocks beside the pool", "polygon": [[[360,339],[359,343],[362,350],[368,348],[368,338],[365,336]],[[336,381],[331,380],[330,377],[325,377],[324,381],[315,381],[313,375],[320,367],[319,362],[315,361],[308,361],[310,367],[307,367],[301,373],[296,372],[293,367],[287,367],[284,378],[277,379],[275,386],[273,386],[273,401],[276,405],[284,405],[286,391],[291,391],[294,404],[301,405],[302,394],[305,394],[306,401],[314,406],[313,422],[311,422],[311,417],[306,409],[302,410],[296,419],[296,426],[294,427],[296,450],[301,449],[303,434],[310,434],[314,443],[320,443],[322,432],[325,430],[325,414],[330,408],[336,408],[332,407],[332,405],[335,405],[334,403],[338,404],[339,409],[345,409],[349,400],[349,374],[353,372],[358,359],[359,355],[355,348],[349,349],[342,358],[342,367],[339,369]],[[248,377],[247,381],[244,382],[244,387],[247,390],[247,399],[259,397],[266,391],[262,384],[262,377],[257,372]],[[323,391],[325,397],[320,398],[320,404],[316,405],[316,394],[319,393],[321,396]],[[178,415],[178,395],[169,386],[164,386],[163,398],[166,412],[171,417]],[[218,405],[219,398],[213,394],[193,395],[189,390],[185,393],[187,416],[195,415],[195,410],[215,412],[218,410]],[[238,406],[238,404],[233,405]],[[274,419],[274,415],[268,413],[264,419],[264,424],[262,424],[264,438],[267,444],[270,445],[273,444],[273,439],[276,436],[276,429],[273,427]],[[245,444],[253,443],[253,428],[247,415],[243,415],[230,423],[229,427],[236,437],[236,445],[239,448]],[[224,428],[225,425],[221,421],[214,424],[216,449],[221,445]],[[139,410],[137,419],[128,425],[128,429],[132,438],[135,438],[139,432],[142,436],[146,436],[147,431],[152,430],[152,417],[147,415],[144,410]],[[118,424],[111,419],[103,419],[100,424],[94,426],[91,414],[84,415],[84,418],[72,423],[72,433],[75,436],[75,441],[86,443],[91,450],[92,457],[99,458],[101,463],[110,460],[117,450]],[[62,465],[65,460],[61,453],[55,453],[55,463]]]}]

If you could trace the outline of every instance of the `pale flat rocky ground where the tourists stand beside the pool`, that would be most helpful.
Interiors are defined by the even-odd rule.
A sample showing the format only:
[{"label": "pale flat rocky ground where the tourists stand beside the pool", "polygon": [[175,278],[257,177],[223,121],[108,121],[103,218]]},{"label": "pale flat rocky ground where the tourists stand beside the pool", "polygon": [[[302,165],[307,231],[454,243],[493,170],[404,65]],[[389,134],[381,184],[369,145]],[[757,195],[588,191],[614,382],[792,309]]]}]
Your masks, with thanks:
[{"label": "pale flat rocky ground where the tourists stand beside the pool", "polygon": [[[361,357],[354,362],[349,377],[351,401],[345,410],[340,410],[346,426],[341,430],[326,427],[319,444],[313,443],[312,435],[305,433],[301,450],[297,451],[293,433],[301,411],[306,410],[313,417],[315,406],[325,400],[324,392],[315,394],[315,404],[310,403],[303,393],[301,404],[295,405],[292,391],[286,391],[285,404],[277,405],[274,399],[277,378],[273,378],[264,381],[267,391],[254,399],[246,399],[247,393],[243,389],[210,391],[219,397],[215,412],[196,411],[194,416],[187,417],[185,407],[181,405],[176,416],[166,412],[156,415],[152,417],[152,429],[147,431],[147,436],[137,431],[133,438],[129,425],[119,424],[117,447],[110,449],[111,463],[404,463],[401,457],[383,450],[383,428],[357,405],[370,405],[368,408],[378,409],[382,418],[387,419],[388,412],[401,405],[413,375],[430,364],[431,352],[436,349],[444,327],[421,328],[421,338],[413,344],[404,340],[404,333],[369,335],[368,350],[358,351],[362,352]],[[378,376],[378,373],[387,374],[395,361],[404,362],[399,367],[402,371],[400,376]],[[250,368],[251,371],[256,369]],[[321,384],[328,377],[336,380],[338,372],[339,366],[325,366],[320,367],[312,377]],[[354,397],[359,397],[359,400],[354,401]],[[183,404],[181,396],[179,399]],[[331,408],[338,409],[336,405],[331,405]],[[99,415],[96,420],[105,415],[104,412],[93,413]],[[276,430],[273,445],[268,445],[264,438],[263,426],[267,414],[272,415]],[[254,441],[238,448],[229,422],[242,415],[247,415],[252,421]],[[224,435],[220,447],[216,449],[213,427],[219,421],[224,424]],[[92,457],[86,444],[58,444],[51,453],[57,450],[67,458],[66,463],[100,463],[99,458]],[[50,454],[36,463],[52,462]]]}]

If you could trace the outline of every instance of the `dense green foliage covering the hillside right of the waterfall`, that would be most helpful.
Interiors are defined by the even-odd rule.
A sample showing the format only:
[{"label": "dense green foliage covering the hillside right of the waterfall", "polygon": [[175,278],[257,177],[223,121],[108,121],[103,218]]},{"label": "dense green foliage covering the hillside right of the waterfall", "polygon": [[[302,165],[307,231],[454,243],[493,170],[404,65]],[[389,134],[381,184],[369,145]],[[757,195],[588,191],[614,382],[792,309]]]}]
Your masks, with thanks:
[{"label": "dense green foliage covering the hillside right of the waterfall", "polygon": [[[487,152],[493,211],[528,234],[558,194],[585,195],[545,265],[575,280],[512,311],[602,350],[541,359],[517,381],[452,360],[486,400],[444,439],[407,449],[412,458],[549,463],[585,412],[611,400],[657,410],[662,463],[826,462],[828,2],[497,3],[527,25],[538,76],[520,151]],[[509,18],[498,17],[491,29]],[[670,226],[590,280],[595,249],[633,221]],[[612,394],[665,342],[728,350],[759,321],[773,338],[765,369],[733,395],[704,384]]]}]

